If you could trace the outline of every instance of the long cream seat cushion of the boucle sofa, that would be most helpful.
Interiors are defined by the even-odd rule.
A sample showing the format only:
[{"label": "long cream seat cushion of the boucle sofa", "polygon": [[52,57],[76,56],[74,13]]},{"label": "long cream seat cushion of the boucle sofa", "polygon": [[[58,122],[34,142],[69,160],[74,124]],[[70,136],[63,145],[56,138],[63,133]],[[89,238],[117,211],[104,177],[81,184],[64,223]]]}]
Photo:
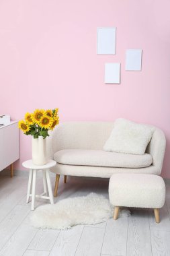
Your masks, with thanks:
[{"label": "long cream seat cushion of the boucle sofa", "polygon": [[103,150],[60,150],[54,154],[54,160],[59,164],[120,168],[142,168],[153,162],[152,156],[146,153],[133,155]]}]

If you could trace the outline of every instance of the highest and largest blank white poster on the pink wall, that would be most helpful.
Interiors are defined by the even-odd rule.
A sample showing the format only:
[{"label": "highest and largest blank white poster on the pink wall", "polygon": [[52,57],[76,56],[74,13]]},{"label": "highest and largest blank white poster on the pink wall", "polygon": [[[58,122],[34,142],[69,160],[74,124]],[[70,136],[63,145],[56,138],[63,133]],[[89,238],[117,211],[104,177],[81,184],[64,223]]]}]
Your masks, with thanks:
[{"label": "highest and largest blank white poster on the pink wall", "polygon": [[97,54],[114,55],[116,52],[116,28],[97,28]]}]

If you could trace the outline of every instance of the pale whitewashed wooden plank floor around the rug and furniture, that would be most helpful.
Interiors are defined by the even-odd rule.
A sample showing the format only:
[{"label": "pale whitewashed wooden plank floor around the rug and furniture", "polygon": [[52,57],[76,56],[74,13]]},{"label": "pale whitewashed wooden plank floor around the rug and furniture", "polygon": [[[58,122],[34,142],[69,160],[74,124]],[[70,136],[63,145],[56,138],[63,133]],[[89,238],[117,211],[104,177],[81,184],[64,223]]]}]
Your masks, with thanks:
[{"label": "pale whitewashed wooden plank floor around the rug and furniture", "polygon": [[[156,224],[151,210],[134,210],[130,217],[71,230],[44,230],[30,225],[30,203],[26,204],[28,175],[11,179],[0,172],[0,256],[169,256],[170,255],[170,186],[161,209],[161,223]],[[28,172],[27,172],[28,174]],[[52,176],[54,188],[54,176]],[[38,177],[38,193],[42,180]],[[61,177],[58,201],[66,197],[100,193],[108,197],[108,180]],[[36,201],[36,207],[43,199]]]}]

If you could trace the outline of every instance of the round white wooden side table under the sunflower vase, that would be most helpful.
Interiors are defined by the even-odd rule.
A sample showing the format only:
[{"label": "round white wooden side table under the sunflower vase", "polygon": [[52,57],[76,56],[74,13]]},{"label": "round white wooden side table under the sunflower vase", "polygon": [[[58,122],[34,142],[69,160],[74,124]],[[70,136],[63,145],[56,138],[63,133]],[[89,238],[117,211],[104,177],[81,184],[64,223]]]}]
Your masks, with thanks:
[{"label": "round white wooden side table under the sunflower vase", "polygon": [[[29,180],[28,180],[27,203],[30,197],[32,197],[32,211],[34,211],[35,197],[50,199],[50,203],[53,204],[54,201],[53,201],[53,195],[52,195],[52,187],[50,183],[49,169],[55,166],[56,162],[54,160],[49,160],[47,164],[35,165],[33,164],[32,160],[28,160],[26,162],[23,162],[22,165],[25,168],[30,169]],[[44,193],[42,193],[41,195],[36,195],[36,172],[38,170],[42,170],[42,178],[43,178],[43,185],[44,185]],[[48,191],[47,191],[47,188],[48,188]],[[32,189],[32,193],[31,193],[31,189]]]}]

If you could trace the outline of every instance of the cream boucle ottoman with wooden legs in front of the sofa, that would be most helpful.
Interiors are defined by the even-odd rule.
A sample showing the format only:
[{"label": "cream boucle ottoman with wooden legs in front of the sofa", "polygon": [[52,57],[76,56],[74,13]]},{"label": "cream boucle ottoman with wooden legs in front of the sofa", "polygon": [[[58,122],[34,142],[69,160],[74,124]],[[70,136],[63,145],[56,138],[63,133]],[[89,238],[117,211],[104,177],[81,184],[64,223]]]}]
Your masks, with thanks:
[{"label": "cream boucle ottoman with wooden legs in front of the sofa", "polygon": [[160,176],[152,174],[113,174],[109,183],[110,203],[116,206],[114,220],[118,218],[120,206],[153,208],[155,220],[159,219],[159,208],[165,203],[165,183]]}]

